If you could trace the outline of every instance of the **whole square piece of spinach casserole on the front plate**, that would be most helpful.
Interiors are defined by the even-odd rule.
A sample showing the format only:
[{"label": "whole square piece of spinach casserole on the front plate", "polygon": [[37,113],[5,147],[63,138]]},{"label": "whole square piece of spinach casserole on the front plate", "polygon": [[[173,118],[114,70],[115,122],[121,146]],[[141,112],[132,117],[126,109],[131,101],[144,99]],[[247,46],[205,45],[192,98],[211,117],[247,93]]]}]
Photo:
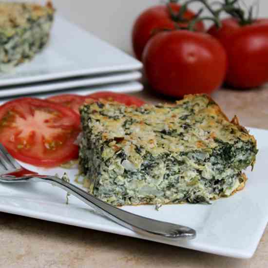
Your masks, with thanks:
[{"label": "whole square piece of spinach casserole on the front plate", "polygon": [[243,189],[256,140],[206,95],[174,105],[80,108],[79,166],[85,185],[116,206],[209,203]]}]

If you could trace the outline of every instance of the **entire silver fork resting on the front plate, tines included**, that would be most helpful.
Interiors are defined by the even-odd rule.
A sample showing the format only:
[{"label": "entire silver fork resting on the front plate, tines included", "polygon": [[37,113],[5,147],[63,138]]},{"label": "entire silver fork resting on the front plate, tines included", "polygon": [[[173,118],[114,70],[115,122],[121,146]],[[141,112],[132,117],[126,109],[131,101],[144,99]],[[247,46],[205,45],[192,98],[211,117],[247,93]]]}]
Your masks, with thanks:
[{"label": "entire silver fork resting on the front plate, tines included", "polygon": [[56,176],[40,175],[22,168],[19,163],[0,144],[0,182],[47,182],[75,195],[113,222],[138,233],[171,239],[193,239],[195,230],[177,224],[162,222],[123,211],[101,201],[92,194]]}]

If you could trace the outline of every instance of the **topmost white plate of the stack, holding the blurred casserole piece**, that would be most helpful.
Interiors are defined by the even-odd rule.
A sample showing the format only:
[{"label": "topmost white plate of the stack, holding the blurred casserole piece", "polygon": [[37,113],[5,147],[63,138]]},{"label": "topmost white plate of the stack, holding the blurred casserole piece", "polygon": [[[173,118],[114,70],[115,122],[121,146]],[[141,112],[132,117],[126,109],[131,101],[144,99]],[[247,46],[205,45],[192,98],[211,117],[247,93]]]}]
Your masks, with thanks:
[{"label": "topmost white plate of the stack, holding the blurred casserole piece", "polygon": [[32,61],[0,74],[0,87],[141,67],[138,60],[57,15],[48,45]]}]

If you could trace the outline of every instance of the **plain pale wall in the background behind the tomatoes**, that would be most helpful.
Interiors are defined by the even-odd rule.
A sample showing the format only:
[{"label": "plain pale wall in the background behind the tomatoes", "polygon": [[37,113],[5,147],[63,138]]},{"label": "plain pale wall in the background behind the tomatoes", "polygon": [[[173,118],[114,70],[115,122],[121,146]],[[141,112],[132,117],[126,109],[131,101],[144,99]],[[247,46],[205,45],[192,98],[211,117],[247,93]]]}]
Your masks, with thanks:
[{"label": "plain pale wall in the background behind the tomatoes", "polygon": [[[254,1],[244,0],[246,4]],[[145,8],[160,2],[164,0],[53,0],[58,13],[127,52],[132,51],[134,19]],[[259,15],[268,17],[268,0],[259,2]],[[196,4],[191,7],[198,8]]]}]

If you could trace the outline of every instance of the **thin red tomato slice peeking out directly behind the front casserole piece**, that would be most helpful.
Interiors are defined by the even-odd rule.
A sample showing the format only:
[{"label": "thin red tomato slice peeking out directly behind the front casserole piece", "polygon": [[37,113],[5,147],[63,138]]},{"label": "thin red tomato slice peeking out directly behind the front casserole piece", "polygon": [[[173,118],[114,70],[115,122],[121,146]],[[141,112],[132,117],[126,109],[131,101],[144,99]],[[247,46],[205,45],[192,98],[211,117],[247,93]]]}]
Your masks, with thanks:
[{"label": "thin red tomato slice peeking out directly behind the front casserole piece", "polygon": [[87,95],[88,98],[93,98],[96,100],[99,99],[105,99],[108,101],[116,101],[119,103],[123,103],[127,106],[135,105],[135,106],[141,106],[145,104],[145,102],[137,97],[129,96],[127,94],[121,94],[121,93],[114,93],[109,91],[104,92],[97,92],[90,95]]}]

